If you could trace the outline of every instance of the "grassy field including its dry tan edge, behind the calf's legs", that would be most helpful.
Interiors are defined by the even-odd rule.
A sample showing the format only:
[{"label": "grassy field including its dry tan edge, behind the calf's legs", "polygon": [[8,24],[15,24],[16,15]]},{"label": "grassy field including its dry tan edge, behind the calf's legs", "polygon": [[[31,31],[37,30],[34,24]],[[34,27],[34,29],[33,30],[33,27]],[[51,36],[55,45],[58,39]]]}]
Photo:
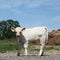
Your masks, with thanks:
[{"label": "grassy field including its dry tan edge, behind the calf's legs", "polygon": [[[7,52],[10,53],[17,53],[18,44],[16,39],[4,39],[0,40],[0,54],[4,54]],[[29,54],[38,54],[39,52],[39,45],[29,44],[28,48]],[[9,54],[10,54],[9,53]],[[24,54],[24,48],[22,46],[21,53]],[[44,54],[60,54],[60,46],[55,45],[46,45]]]}]

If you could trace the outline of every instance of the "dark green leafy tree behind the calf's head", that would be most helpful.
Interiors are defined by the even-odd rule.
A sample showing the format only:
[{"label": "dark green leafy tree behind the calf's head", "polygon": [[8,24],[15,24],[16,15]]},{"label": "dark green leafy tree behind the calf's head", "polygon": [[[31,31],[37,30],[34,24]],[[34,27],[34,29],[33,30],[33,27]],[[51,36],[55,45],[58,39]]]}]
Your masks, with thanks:
[{"label": "dark green leafy tree behind the calf's head", "polygon": [[18,21],[12,19],[0,21],[0,39],[14,38],[15,33],[11,32],[11,27],[20,26]]}]

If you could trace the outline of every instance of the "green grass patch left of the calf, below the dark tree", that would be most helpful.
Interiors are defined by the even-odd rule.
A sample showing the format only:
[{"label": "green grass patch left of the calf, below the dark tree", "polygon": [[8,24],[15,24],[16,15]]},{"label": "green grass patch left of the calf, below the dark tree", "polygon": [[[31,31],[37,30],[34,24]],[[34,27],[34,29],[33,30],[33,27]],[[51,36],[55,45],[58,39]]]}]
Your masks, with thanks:
[{"label": "green grass patch left of the calf, below the dark tree", "polygon": [[0,40],[0,52],[4,53],[7,51],[17,50],[17,41],[16,39],[4,39]]}]

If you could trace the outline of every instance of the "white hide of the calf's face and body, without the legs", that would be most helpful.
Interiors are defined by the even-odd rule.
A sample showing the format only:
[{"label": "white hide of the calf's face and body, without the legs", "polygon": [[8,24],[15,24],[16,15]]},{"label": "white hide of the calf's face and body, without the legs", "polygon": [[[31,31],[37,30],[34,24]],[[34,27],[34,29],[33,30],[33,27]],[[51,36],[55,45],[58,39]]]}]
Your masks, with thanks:
[{"label": "white hide of the calf's face and body, without the legs", "polygon": [[[20,31],[23,28],[17,27],[15,29],[16,31],[16,36],[20,35]],[[37,40],[37,39],[42,39],[43,42],[45,40],[48,40],[48,31],[46,27],[35,27],[35,28],[30,28],[30,29],[25,29],[22,31],[22,35],[25,37],[25,39],[28,40]]]}]

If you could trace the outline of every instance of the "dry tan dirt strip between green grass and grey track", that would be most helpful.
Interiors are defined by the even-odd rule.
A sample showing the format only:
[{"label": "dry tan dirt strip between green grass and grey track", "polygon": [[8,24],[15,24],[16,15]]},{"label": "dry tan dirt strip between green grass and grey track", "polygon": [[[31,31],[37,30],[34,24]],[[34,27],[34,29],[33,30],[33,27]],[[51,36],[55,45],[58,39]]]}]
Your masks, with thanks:
[{"label": "dry tan dirt strip between green grass and grey track", "polygon": [[[17,55],[17,52],[0,53],[0,57],[16,56],[16,55]],[[21,54],[21,55],[24,55],[24,54]],[[38,54],[28,54],[28,55],[38,55]],[[56,51],[56,50],[45,51],[44,55],[60,55],[60,51]]]}]

